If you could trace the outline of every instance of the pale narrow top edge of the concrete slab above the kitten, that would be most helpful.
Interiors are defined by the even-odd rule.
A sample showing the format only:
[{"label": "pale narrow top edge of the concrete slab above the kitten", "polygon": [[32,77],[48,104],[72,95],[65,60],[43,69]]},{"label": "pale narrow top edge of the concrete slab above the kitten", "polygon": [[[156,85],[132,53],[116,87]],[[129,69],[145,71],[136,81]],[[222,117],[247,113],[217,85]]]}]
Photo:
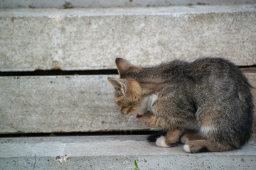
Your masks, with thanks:
[{"label": "pale narrow top edge of the concrete slab above the kitten", "polygon": [[55,15],[69,18],[81,16],[178,16],[178,14],[193,13],[235,13],[256,11],[256,4],[241,4],[230,6],[154,6],[139,8],[10,8],[0,10],[0,16],[10,17],[55,17]]}]

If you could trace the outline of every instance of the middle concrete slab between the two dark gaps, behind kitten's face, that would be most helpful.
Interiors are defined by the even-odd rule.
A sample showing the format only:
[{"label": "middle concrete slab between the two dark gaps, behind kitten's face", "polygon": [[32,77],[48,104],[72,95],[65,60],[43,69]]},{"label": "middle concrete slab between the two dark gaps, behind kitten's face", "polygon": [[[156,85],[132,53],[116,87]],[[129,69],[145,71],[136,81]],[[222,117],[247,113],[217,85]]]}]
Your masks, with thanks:
[{"label": "middle concrete slab between the two dark gaps, behind kitten's face", "polygon": [[119,113],[107,77],[0,77],[0,133],[148,130]]}]

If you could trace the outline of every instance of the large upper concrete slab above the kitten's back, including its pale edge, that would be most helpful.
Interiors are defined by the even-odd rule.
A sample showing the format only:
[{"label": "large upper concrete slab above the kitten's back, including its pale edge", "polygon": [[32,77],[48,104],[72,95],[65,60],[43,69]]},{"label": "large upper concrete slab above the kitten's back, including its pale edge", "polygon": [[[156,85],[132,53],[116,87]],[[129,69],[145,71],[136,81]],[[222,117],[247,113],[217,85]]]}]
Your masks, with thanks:
[{"label": "large upper concrete slab above the kitten's back, including its pale edge", "polygon": [[1,9],[0,71],[113,69],[124,57],[144,66],[224,57],[256,64],[256,8]]}]

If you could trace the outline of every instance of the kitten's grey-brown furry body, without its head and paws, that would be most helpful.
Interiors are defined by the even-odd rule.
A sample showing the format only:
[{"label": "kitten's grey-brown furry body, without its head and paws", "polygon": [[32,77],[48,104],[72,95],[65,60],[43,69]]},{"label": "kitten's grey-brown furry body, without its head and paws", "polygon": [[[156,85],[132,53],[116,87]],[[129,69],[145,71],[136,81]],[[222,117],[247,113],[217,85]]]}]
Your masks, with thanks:
[{"label": "kitten's grey-brown furry body, without its head and paws", "polygon": [[[157,94],[156,116],[166,118],[170,125],[196,123],[203,137],[233,148],[250,139],[254,107],[251,86],[240,69],[228,60],[174,60],[125,72],[120,78],[139,82],[146,91],[144,96]],[[209,131],[201,130],[208,126]]]}]

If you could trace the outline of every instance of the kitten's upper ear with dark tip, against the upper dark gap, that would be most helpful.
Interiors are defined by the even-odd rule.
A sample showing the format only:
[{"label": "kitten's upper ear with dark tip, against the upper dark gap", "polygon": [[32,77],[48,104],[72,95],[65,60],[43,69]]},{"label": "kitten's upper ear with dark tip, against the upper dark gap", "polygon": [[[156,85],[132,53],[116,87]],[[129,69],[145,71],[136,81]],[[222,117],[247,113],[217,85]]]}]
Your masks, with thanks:
[{"label": "kitten's upper ear with dark tip, against the upper dark gap", "polygon": [[134,66],[128,60],[125,60],[122,58],[117,58],[115,60],[115,63],[117,65],[117,70],[119,72],[119,75],[142,69],[142,67]]}]

